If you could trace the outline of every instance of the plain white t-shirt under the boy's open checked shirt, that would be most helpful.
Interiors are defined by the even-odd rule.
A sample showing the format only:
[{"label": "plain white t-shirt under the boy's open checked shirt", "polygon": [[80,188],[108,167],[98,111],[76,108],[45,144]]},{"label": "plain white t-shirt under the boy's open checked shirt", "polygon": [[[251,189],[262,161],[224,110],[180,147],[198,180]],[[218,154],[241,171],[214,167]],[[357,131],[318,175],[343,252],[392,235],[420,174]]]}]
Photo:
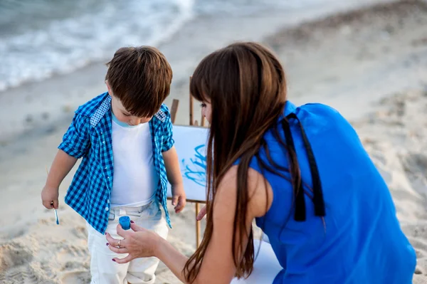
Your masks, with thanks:
[{"label": "plain white t-shirt under the boy's open checked shirt", "polygon": [[112,155],[111,207],[149,204],[159,183],[149,122],[130,126],[112,114]]}]

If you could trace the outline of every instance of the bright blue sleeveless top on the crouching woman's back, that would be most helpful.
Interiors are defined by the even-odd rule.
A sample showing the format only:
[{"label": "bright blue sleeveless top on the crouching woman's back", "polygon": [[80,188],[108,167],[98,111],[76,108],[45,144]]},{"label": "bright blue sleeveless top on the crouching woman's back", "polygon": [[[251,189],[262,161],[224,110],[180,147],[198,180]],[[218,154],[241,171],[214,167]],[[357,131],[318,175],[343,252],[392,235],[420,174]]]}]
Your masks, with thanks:
[{"label": "bright blue sleeveless top on the crouching woman's back", "polygon": [[[320,104],[296,108],[287,102],[302,182],[306,221],[295,221],[292,184],[278,174],[251,167],[268,180],[273,204],[257,224],[283,266],[275,283],[411,283],[416,256],[396,219],[391,194],[349,123]],[[280,120],[283,120],[281,117]],[[326,216],[315,216],[312,177],[300,124],[304,127],[322,182]],[[279,135],[285,137],[279,123]],[[287,153],[270,130],[264,137],[273,161],[289,168]],[[260,157],[268,162],[260,149]],[[280,172],[280,171],[279,171]],[[280,172],[290,179],[288,172]]]}]

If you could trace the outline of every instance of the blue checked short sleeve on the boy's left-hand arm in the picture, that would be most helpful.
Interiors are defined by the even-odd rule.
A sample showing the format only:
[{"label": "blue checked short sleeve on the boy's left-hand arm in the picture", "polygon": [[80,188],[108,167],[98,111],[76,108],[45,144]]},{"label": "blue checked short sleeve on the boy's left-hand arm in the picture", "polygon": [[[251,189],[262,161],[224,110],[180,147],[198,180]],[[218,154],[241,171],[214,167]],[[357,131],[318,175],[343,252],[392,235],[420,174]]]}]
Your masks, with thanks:
[{"label": "blue checked short sleeve on the boy's left-hand arm in the picture", "polygon": [[83,157],[90,147],[89,119],[89,117],[75,114],[58,149],[77,159]]}]

